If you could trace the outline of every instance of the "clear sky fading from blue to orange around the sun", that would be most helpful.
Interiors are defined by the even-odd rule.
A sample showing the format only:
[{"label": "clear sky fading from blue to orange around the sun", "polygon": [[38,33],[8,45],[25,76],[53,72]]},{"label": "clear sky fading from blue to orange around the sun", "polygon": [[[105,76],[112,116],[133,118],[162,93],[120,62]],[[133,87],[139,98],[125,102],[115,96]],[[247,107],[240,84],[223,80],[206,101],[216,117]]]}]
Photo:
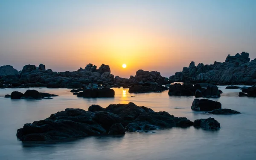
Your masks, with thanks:
[{"label": "clear sky fading from blue to orange around the sun", "polygon": [[0,66],[17,70],[92,63],[169,77],[243,51],[256,58],[256,0],[0,0]]}]

